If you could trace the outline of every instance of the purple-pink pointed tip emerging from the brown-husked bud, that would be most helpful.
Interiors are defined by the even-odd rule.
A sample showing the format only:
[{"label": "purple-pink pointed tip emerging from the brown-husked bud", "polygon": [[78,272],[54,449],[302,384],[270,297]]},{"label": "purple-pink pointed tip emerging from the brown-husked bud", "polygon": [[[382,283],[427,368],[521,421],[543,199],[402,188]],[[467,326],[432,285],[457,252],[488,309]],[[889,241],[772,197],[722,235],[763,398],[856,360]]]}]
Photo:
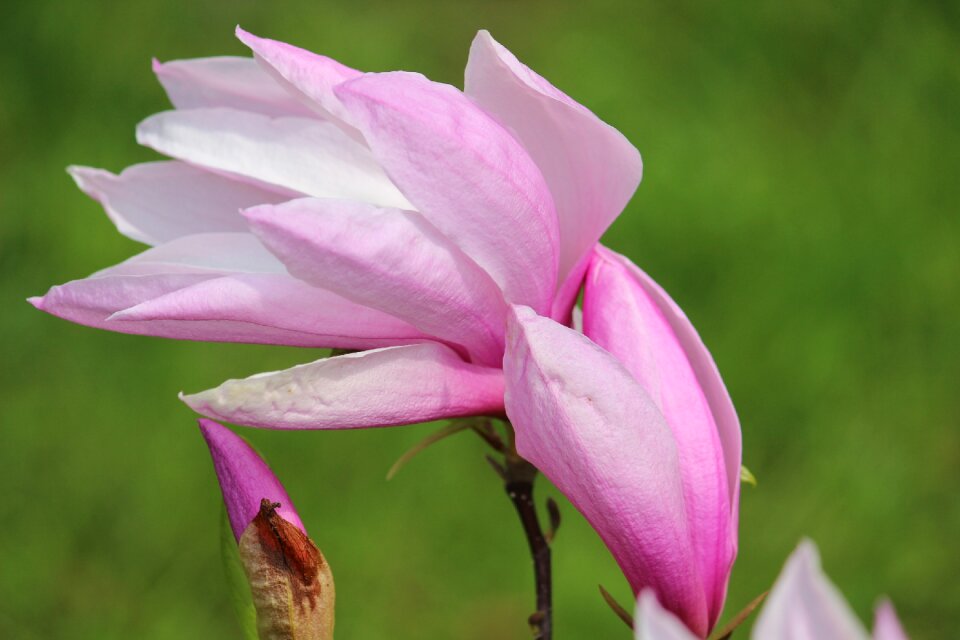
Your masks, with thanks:
[{"label": "purple-pink pointed tip emerging from the brown-husked bud", "polygon": [[277,513],[306,533],[290,496],[267,463],[247,442],[213,420],[200,420],[200,432],[210,447],[213,468],[220,481],[230,527],[237,540],[260,510],[260,500],[279,502]]}]

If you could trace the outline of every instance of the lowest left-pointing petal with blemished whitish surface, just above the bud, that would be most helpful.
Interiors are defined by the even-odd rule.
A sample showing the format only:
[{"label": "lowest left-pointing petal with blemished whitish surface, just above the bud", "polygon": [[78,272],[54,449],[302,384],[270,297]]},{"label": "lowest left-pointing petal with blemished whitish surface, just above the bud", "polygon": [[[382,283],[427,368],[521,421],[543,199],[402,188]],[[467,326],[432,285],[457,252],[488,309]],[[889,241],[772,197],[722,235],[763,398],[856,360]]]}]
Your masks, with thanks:
[{"label": "lowest left-pointing petal with blemished whitish surface, just above the bud", "polygon": [[317,360],[181,396],[211,418],[268,429],[355,429],[503,411],[503,376],[435,343]]}]

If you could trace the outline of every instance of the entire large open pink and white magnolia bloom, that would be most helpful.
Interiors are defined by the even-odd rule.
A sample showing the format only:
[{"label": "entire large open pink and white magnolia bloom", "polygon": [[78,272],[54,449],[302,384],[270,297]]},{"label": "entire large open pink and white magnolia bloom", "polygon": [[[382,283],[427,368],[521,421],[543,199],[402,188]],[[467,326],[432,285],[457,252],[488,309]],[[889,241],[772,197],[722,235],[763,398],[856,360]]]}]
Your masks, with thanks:
[{"label": "entire large open pink and white magnolia bloom", "polygon": [[462,92],[238,36],[255,61],[155,65],[176,109],[137,139],[173,160],[71,170],[153,248],[33,304],[120,332],[358,351],[184,397],[216,419],[506,416],[634,590],[705,636],[736,555],[740,430],[683,313],[597,244],[640,182],[637,150],[486,32]]}]

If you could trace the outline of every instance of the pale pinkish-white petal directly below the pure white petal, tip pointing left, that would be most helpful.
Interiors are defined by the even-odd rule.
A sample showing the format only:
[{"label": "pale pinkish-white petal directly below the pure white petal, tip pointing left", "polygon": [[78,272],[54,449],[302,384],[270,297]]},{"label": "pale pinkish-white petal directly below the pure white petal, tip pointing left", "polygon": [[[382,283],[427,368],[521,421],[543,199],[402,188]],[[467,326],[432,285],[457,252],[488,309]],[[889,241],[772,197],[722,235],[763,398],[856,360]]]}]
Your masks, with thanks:
[{"label": "pale pinkish-white petal directly below the pure white petal, tip pointing left", "polygon": [[246,231],[240,209],[288,199],[185,162],[136,164],[120,175],[90,167],[68,171],[84,193],[103,205],[120,233],[146,244],[194,233]]}]

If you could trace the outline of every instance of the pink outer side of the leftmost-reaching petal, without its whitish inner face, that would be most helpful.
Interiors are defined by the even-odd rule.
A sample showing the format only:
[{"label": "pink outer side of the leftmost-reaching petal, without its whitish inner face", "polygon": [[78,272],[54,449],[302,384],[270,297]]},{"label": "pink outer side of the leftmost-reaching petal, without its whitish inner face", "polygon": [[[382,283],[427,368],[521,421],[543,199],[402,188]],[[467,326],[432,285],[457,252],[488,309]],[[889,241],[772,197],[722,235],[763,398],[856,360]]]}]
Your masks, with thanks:
[{"label": "pink outer side of the leftmost-reaching petal, without its whitish inner face", "polygon": [[178,340],[369,349],[427,339],[289,276],[105,276],[52,287],[29,302],[88,327]]}]

